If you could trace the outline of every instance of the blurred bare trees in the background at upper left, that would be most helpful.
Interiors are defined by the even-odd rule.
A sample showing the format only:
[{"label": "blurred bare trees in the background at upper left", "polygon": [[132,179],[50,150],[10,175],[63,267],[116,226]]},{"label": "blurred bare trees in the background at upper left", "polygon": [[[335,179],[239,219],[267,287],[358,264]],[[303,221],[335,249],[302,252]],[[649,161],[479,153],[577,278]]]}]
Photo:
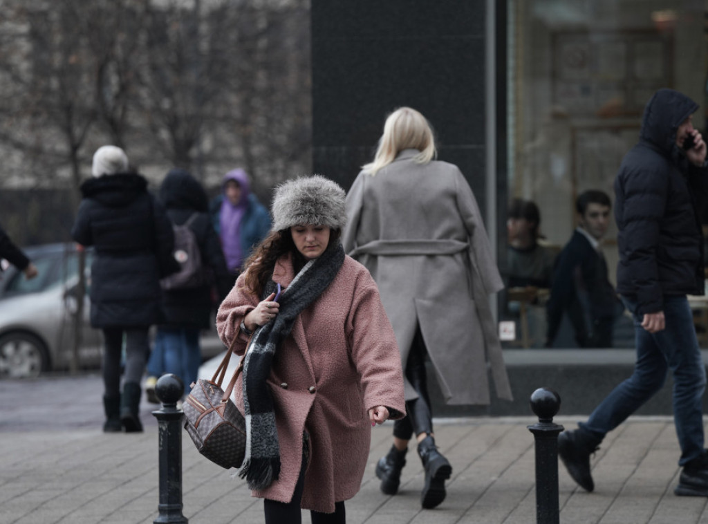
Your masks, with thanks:
[{"label": "blurred bare trees in the background at upper left", "polygon": [[309,171],[308,0],[0,6],[0,187],[69,190],[58,198],[75,210],[106,143],[153,181],[181,166],[214,183],[244,166],[265,191]]}]

